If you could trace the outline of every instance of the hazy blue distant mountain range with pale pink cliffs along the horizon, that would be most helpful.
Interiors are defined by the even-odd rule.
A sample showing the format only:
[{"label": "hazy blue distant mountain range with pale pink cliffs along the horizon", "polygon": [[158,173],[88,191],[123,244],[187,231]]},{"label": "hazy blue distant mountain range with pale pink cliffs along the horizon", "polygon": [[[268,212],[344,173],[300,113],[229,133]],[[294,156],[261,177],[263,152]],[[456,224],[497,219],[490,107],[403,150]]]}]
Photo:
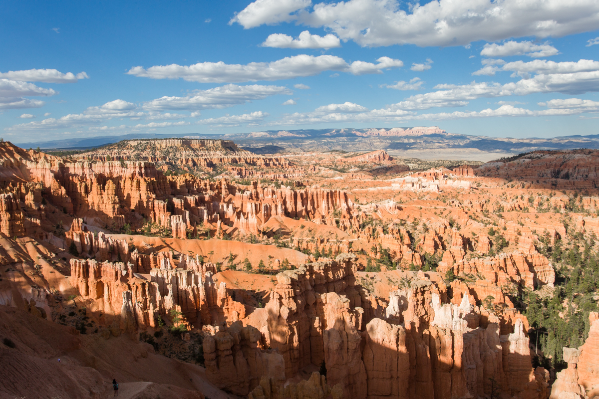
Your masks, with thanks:
[{"label": "hazy blue distant mountain range with pale pink cliffs along the horizon", "polygon": [[534,150],[599,149],[599,135],[572,135],[555,138],[491,138],[447,133],[437,126],[394,127],[392,129],[301,129],[266,130],[232,135],[132,133],[124,136],[69,138],[45,142],[15,143],[23,148],[83,149],[100,147],[121,140],[141,138],[199,138],[233,140],[240,147],[258,153],[266,151],[371,151],[371,150],[434,150],[464,148],[497,153],[523,153]]}]

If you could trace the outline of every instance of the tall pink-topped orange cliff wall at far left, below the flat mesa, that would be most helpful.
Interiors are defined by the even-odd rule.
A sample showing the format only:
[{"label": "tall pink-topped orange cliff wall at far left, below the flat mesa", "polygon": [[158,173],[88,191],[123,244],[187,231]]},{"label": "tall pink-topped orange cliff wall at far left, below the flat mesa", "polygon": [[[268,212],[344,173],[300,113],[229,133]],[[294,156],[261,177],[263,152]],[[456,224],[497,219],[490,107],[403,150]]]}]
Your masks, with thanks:
[{"label": "tall pink-topped orange cliff wall at far left, below the flat mesa", "polygon": [[[151,163],[69,162],[10,143],[1,147],[5,175],[16,175],[23,184],[40,184],[44,200],[56,209],[85,216],[101,227],[122,227],[131,209],[149,215],[152,198],[168,194],[167,179]],[[36,200],[32,191],[32,203],[41,202],[41,195]]]}]

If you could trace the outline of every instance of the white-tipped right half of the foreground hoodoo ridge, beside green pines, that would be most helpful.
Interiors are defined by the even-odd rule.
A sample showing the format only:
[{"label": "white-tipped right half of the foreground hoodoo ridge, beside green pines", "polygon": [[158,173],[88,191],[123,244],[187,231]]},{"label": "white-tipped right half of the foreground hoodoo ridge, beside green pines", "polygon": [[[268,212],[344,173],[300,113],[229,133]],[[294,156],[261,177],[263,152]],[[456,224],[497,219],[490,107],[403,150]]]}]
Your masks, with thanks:
[{"label": "white-tipped right half of the foreground hoodoo ridge, beside green pines", "polygon": [[537,391],[547,391],[548,375],[531,367],[522,321],[501,335],[500,318],[492,315],[483,328],[483,315],[468,295],[459,306],[441,303],[441,295],[430,282],[413,283],[392,296],[389,321],[368,323],[368,397],[485,397],[492,381],[518,398],[543,397]]}]

